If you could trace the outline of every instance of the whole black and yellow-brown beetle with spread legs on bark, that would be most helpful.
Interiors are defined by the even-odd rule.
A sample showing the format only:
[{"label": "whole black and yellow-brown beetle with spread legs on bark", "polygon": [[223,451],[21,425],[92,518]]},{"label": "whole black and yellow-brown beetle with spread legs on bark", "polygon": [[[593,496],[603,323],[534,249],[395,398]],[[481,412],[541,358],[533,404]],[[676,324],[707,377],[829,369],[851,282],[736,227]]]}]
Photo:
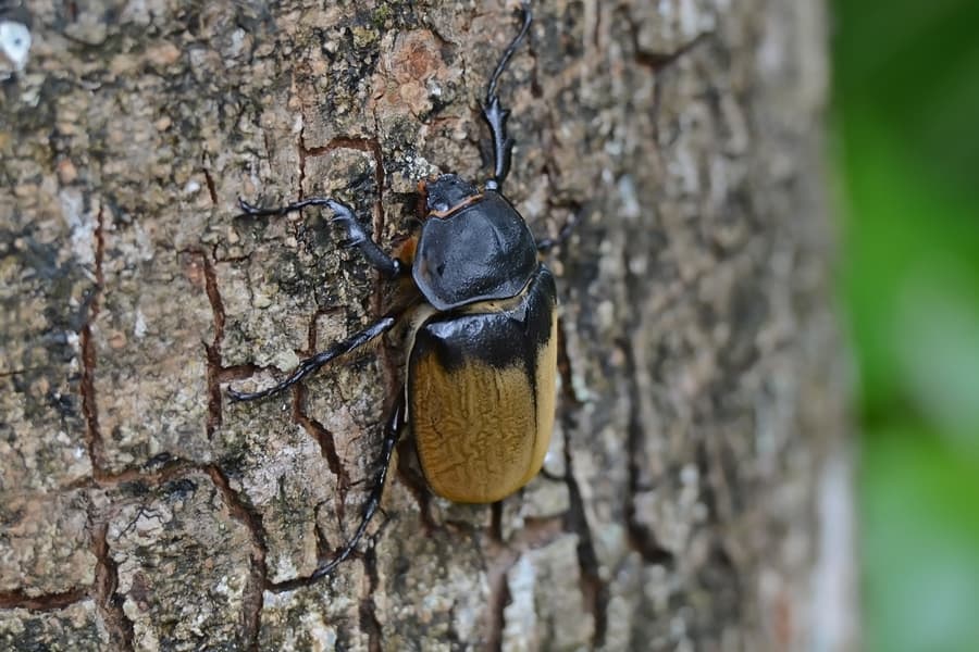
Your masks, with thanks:
[{"label": "whole black and yellow-brown beetle with spread legs on bark", "polygon": [[[244,215],[284,215],[326,206],[344,229],[345,243],[407,296],[360,333],[303,360],[284,380],[256,392],[228,389],[249,401],[292,387],[330,361],[407,326],[405,390],[385,426],[377,475],[360,525],[336,557],[312,577],[332,570],[351,553],[377,510],[392,453],[408,427],[432,489],[451,501],[491,503],[513,493],[544,463],[555,412],[557,298],[554,277],[538,258],[555,240],[535,242],[520,213],[501,193],[513,141],[508,111],[496,84],[526,35],[531,12],[504,51],[486,90],[483,117],[492,135],[494,171],[482,189],[458,175],[422,181],[426,217],[417,239],[395,255],[368,236],[349,206],[318,197],[275,209],[241,201]],[[566,231],[567,233],[567,231]]]}]

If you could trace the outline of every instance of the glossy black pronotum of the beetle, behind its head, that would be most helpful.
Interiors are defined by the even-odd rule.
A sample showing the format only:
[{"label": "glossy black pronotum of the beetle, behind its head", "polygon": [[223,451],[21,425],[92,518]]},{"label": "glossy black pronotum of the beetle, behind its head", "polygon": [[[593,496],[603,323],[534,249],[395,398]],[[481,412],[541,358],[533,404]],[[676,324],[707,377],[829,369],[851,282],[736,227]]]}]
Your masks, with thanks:
[{"label": "glossy black pronotum of the beetle, behind its head", "polygon": [[505,197],[486,190],[422,225],[411,276],[439,311],[516,297],[537,268],[534,236]]}]

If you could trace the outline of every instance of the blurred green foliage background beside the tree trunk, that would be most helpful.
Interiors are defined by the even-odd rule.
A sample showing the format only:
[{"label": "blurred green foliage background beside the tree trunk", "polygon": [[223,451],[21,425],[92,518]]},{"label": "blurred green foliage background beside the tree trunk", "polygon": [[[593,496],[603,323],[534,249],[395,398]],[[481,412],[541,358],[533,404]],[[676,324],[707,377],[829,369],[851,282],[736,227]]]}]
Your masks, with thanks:
[{"label": "blurred green foliage background beside the tree trunk", "polygon": [[979,2],[834,0],[868,651],[979,651]]}]

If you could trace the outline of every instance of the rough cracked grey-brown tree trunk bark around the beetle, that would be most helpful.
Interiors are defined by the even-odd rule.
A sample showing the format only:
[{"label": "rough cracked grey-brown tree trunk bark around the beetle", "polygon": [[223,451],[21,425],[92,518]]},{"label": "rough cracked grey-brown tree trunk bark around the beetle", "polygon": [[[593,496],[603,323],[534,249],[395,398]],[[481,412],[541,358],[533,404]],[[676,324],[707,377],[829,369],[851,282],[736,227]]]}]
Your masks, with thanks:
[{"label": "rough cracked grey-brown tree trunk bark around the beetle", "polygon": [[818,638],[841,431],[818,3],[542,1],[507,193],[577,217],[548,474],[433,498],[411,442],[356,556],[399,342],[228,404],[382,309],[385,246],[482,179],[503,2],[32,2],[0,106],[0,648],[789,650]]}]

